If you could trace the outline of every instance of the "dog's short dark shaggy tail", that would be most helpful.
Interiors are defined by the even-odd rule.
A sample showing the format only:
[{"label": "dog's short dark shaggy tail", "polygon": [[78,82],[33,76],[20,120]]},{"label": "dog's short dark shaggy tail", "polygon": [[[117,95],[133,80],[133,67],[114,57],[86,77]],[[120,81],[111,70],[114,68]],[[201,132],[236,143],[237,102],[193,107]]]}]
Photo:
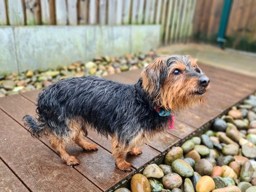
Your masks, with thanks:
[{"label": "dog's short dark shaggy tail", "polygon": [[24,125],[28,127],[28,131],[30,132],[32,137],[42,137],[44,133],[44,126],[43,124],[39,124],[36,119],[34,119],[30,115],[25,115],[23,117]]}]

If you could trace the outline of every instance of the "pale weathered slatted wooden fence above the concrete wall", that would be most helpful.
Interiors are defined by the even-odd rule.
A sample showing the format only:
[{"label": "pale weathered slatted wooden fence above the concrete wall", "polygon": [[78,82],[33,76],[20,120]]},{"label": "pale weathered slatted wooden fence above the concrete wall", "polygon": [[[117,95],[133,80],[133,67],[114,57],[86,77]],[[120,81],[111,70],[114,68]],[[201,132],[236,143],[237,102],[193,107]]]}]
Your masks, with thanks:
[{"label": "pale weathered slatted wooden fence above the concrete wall", "polygon": [[196,0],[0,0],[0,25],[161,24],[164,44],[192,36]]}]

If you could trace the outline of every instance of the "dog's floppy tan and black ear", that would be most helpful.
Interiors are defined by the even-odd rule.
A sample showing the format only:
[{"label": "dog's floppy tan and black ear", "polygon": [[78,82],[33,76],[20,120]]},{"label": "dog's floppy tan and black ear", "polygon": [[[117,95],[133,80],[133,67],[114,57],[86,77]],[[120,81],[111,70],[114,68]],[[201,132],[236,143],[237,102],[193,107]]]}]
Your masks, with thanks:
[{"label": "dog's floppy tan and black ear", "polygon": [[157,57],[141,72],[142,87],[151,97],[158,95],[167,76],[165,59],[166,57]]}]

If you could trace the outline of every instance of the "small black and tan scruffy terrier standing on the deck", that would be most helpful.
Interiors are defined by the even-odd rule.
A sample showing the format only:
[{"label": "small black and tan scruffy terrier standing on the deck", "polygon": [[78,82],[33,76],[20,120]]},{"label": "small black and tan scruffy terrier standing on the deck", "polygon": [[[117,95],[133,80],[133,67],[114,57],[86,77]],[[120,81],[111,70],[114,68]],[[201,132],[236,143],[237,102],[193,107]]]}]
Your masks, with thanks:
[{"label": "small black and tan scruffy terrier standing on the deck", "polygon": [[173,115],[194,102],[203,102],[209,79],[190,56],[156,58],[135,84],[121,84],[97,76],[61,79],[38,96],[38,118],[23,117],[33,137],[50,136],[50,144],[68,166],[79,160],[68,155],[74,142],[86,151],[97,145],[82,138],[87,129],[112,137],[116,166],[131,171],[125,156],[139,155],[156,133],[173,128]]}]

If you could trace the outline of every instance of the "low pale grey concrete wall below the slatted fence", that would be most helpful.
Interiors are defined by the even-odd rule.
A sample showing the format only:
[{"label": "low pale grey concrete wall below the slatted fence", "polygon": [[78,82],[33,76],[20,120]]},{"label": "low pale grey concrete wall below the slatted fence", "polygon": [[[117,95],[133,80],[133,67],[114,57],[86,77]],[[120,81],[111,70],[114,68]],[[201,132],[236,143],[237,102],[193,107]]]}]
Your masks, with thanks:
[{"label": "low pale grey concrete wall below the slatted fence", "polygon": [[0,73],[157,48],[160,25],[0,27]]}]

